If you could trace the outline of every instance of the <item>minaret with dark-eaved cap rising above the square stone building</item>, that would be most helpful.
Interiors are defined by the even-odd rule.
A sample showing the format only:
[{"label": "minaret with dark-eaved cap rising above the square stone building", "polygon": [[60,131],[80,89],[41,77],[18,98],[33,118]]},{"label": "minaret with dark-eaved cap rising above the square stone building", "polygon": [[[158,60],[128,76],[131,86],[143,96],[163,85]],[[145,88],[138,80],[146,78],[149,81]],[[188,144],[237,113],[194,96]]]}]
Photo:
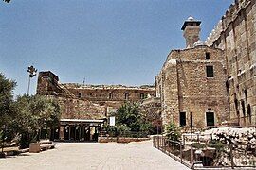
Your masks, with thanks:
[{"label": "minaret with dark-eaved cap rising above the square stone building", "polygon": [[189,17],[181,27],[181,30],[183,30],[183,37],[186,39],[187,48],[192,48],[193,43],[197,42],[200,39],[200,24],[201,21],[197,21],[194,20],[192,17]]}]

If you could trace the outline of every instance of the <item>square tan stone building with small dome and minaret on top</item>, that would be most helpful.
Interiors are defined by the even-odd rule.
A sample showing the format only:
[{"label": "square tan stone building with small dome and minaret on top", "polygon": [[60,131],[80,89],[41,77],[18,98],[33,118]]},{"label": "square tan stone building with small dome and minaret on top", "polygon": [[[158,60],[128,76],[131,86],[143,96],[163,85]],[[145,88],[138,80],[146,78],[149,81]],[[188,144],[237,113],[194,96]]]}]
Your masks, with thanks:
[{"label": "square tan stone building with small dome and minaret on top", "polygon": [[163,125],[215,126],[229,120],[223,50],[199,40],[200,21],[188,18],[182,26],[186,49],[172,50],[156,76],[156,95],[162,104]]}]

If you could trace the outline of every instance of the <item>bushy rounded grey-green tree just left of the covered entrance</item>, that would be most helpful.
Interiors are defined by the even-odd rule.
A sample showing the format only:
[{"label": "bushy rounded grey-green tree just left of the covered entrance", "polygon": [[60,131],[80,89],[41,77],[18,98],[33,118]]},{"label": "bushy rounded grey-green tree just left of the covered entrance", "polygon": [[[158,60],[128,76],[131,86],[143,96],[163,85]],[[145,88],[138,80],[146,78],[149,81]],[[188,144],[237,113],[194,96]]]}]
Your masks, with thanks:
[{"label": "bushy rounded grey-green tree just left of the covered entrance", "polygon": [[22,148],[39,138],[41,128],[59,125],[61,107],[56,100],[46,96],[18,96],[15,109],[17,118],[14,119],[13,128],[20,134],[19,144]]}]

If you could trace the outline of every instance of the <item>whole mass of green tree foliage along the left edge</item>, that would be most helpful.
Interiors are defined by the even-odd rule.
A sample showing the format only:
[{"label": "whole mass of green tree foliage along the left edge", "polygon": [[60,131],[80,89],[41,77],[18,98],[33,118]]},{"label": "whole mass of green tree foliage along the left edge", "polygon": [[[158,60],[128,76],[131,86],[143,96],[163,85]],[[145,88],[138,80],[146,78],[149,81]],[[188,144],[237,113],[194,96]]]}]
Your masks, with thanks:
[{"label": "whole mass of green tree foliage along the left edge", "polygon": [[19,143],[27,147],[42,127],[59,124],[61,108],[58,101],[39,95],[18,96],[13,100],[16,83],[0,73],[0,142],[11,141],[17,134]]}]

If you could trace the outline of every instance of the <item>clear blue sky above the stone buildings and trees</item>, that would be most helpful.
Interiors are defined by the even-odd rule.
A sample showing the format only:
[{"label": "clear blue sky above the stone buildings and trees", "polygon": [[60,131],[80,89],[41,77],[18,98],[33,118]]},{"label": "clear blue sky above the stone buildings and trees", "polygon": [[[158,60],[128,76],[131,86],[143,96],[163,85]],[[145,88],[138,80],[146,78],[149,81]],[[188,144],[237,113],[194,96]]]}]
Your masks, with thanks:
[{"label": "clear blue sky above the stone buildings and trees", "polygon": [[[233,0],[0,1],[0,72],[27,93],[27,67],[60,82],[153,84],[172,49],[185,48],[181,26],[201,20],[201,40]],[[37,76],[30,94],[36,92]]]}]

